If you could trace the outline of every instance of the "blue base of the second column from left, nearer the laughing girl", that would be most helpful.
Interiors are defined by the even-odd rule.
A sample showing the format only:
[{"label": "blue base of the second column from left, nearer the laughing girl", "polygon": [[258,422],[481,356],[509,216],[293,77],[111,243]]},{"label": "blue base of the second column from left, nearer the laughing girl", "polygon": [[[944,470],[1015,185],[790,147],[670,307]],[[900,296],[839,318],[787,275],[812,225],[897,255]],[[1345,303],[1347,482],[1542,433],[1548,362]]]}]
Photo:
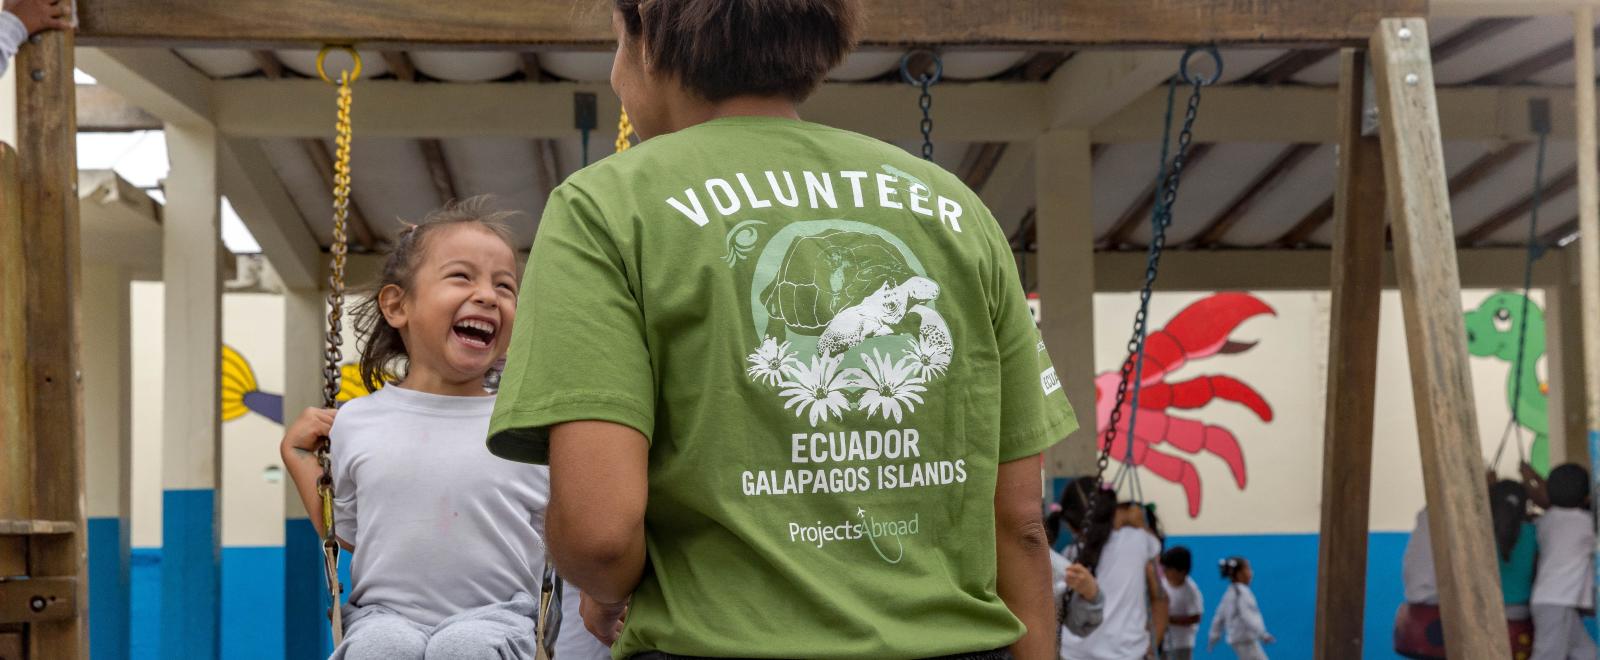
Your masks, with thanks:
[{"label": "blue base of the second column from left, nearer the laughing girl", "polygon": [[162,658],[216,658],[219,557],[216,490],[162,493]]}]

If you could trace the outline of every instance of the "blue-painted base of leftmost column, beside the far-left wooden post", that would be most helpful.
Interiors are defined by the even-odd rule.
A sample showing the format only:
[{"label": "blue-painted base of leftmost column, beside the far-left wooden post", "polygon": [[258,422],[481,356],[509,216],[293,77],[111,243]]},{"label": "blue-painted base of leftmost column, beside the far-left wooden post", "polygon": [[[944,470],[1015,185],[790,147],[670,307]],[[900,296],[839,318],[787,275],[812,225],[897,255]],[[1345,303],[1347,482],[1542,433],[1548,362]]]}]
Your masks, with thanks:
[{"label": "blue-painted base of leftmost column, beside the far-left wooden post", "polygon": [[128,525],[120,517],[91,517],[90,658],[128,658]]}]

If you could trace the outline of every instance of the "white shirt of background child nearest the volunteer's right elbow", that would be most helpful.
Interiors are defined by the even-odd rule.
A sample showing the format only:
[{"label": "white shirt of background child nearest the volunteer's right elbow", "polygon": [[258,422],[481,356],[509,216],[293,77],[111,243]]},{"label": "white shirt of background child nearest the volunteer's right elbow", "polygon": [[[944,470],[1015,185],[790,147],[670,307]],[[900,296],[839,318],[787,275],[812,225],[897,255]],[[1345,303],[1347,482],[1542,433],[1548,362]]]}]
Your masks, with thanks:
[{"label": "white shirt of background child nearest the volunteer's right elbow", "polygon": [[[1069,548],[1070,549],[1070,548]],[[1101,551],[1094,582],[1106,599],[1106,618],[1090,636],[1061,630],[1061,657],[1066,660],[1142,658],[1150,647],[1149,596],[1144,567],[1162,553],[1162,541],[1138,527],[1110,533]],[[1070,559],[1070,557],[1069,557]]]}]

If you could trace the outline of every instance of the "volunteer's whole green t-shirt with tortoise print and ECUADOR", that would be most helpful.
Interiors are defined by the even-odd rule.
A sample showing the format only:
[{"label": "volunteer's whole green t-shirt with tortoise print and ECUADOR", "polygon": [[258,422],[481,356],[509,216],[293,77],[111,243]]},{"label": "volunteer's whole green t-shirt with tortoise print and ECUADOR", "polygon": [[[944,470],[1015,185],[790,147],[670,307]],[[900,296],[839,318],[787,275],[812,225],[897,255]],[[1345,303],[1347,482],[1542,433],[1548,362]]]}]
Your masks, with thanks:
[{"label": "volunteer's whole green t-shirt with tortoise print and ECUADOR", "polygon": [[[994,218],[955,176],[814,123],[650,139],[549,200],[490,450],[650,439],[619,658],[997,649],[995,474],[1077,428]],[[1040,577],[1045,580],[1045,577]]]}]

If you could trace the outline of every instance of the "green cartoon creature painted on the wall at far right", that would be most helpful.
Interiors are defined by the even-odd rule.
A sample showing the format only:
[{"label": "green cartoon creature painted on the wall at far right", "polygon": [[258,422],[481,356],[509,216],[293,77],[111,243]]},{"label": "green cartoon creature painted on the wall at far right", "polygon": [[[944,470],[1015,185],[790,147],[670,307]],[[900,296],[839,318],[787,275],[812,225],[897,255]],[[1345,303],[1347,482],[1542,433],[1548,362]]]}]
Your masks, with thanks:
[{"label": "green cartoon creature painted on the wall at far right", "polygon": [[[1539,360],[1544,359],[1544,311],[1538,303],[1526,301],[1528,319],[1522,319],[1522,293],[1499,292],[1466,314],[1467,352],[1478,357],[1494,357],[1510,365],[1506,373],[1506,404],[1517,423],[1533,433],[1528,463],[1539,474],[1550,471],[1550,439],[1547,412],[1549,384],[1539,381]],[[1522,340],[1523,368],[1517,368],[1518,336]],[[1520,388],[1518,388],[1520,383]]]}]

